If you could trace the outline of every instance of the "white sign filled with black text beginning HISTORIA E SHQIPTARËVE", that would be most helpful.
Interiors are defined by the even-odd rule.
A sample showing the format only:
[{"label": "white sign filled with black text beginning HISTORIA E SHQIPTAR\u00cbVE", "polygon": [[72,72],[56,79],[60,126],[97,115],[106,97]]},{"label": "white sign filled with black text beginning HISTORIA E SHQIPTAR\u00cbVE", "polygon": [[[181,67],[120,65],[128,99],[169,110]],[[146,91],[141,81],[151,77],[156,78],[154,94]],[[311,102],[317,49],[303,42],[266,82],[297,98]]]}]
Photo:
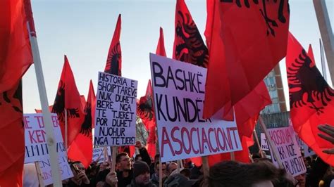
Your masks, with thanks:
[{"label": "white sign filled with black text beginning HISTORIA E SHQIPTAR\u00cbVE", "polygon": [[135,145],[137,81],[99,72],[94,145]]}]

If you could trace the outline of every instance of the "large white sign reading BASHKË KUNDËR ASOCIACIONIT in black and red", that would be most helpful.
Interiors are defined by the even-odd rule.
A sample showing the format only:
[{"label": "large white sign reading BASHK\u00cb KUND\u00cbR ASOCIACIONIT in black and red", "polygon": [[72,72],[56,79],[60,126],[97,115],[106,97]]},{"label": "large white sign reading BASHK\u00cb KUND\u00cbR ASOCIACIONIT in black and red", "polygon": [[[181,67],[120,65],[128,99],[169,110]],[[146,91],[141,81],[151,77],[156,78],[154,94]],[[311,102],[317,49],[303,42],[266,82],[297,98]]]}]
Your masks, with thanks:
[{"label": "large white sign reading BASHK\u00cb KUND\u00cbR ASOCIACIONIT in black and red", "polygon": [[161,162],[242,150],[235,121],[204,120],[206,69],[150,54]]}]

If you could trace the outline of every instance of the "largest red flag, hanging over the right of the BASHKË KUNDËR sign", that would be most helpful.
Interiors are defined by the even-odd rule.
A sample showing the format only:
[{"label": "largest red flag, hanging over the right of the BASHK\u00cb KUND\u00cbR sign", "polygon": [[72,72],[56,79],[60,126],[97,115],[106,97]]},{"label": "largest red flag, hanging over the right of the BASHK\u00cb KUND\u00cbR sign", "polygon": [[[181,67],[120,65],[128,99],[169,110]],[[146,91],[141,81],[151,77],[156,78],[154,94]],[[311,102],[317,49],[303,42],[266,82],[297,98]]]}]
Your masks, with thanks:
[{"label": "largest red flag, hanging over the right of the BASHK\u00cb KUND\u00cbR sign", "polygon": [[290,20],[287,0],[215,3],[208,20],[221,26],[211,28],[205,118],[247,96],[285,56]]}]

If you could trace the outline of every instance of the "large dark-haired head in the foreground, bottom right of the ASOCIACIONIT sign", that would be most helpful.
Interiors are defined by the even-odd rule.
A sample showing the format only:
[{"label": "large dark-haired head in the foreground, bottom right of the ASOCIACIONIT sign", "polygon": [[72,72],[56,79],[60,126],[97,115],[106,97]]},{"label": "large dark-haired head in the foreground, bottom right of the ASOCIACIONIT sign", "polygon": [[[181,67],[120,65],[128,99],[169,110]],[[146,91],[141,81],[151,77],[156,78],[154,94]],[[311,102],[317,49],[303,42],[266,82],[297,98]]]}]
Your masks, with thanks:
[{"label": "large dark-haired head in the foreground, bottom right of the ASOCIACIONIT sign", "polygon": [[275,167],[259,163],[242,164],[235,161],[219,162],[212,166],[209,171],[209,186],[273,186],[277,170]]}]

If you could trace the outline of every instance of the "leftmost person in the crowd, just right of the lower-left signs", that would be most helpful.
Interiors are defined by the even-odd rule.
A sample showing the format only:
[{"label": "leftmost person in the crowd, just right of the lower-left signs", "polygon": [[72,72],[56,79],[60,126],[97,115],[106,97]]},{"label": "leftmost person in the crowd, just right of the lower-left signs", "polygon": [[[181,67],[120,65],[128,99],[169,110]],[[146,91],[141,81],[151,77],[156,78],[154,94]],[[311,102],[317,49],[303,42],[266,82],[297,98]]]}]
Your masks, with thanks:
[{"label": "leftmost person in the crowd, just right of the lower-left signs", "polygon": [[80,161],[70,163],[70,169],[73,172],[73,177],[70,178],[66,184],[66,187],[91,186],[90,181],[85,173],[85,167]]}]

